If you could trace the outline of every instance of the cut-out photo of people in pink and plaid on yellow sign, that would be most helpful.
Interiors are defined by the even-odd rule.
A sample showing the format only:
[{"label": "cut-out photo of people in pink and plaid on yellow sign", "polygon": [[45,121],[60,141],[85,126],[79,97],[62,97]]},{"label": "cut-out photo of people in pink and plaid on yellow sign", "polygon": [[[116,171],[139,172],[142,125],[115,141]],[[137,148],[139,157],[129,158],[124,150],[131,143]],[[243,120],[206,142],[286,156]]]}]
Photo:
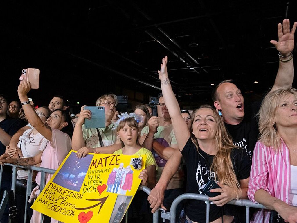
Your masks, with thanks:
[{"label": "cut-out photo of people in pink and plaid on yellow sign", "polygon": [[126,195],[131,190],[133,182],[133,170],[128,165],[120,163],[119,168],[113,168],[107,180],[107,192]]}]

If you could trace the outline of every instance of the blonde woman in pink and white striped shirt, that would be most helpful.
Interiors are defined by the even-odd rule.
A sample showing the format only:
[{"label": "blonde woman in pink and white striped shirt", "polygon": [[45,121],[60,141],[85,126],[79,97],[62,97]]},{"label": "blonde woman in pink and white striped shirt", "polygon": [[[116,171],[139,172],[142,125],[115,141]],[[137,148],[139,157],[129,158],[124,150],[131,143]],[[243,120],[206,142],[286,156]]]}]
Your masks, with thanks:
[{"label": "blonde woman in pink and white striped shirt", "polygon": [[[268,92],[259,111],[260,138],[252,159],[248,196],[297,222],[297,90]],[[268,223],[269,210],[258,210],[252,222]]]}]

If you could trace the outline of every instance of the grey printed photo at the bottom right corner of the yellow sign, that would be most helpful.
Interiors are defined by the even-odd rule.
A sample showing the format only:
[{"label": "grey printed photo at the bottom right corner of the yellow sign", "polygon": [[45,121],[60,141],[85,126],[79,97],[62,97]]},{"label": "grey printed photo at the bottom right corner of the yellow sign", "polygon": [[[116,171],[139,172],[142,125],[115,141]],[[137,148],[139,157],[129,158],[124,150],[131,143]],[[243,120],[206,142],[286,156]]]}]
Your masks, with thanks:
[{"label": "grey printed photo at the bottom right corner of the yellow sign", "polygon": [[131,202],[132,196],[118,195],[116,203],[114,204],[113,211],[109,223],[119,223],[124,218],[124,213],[127,211]]}]

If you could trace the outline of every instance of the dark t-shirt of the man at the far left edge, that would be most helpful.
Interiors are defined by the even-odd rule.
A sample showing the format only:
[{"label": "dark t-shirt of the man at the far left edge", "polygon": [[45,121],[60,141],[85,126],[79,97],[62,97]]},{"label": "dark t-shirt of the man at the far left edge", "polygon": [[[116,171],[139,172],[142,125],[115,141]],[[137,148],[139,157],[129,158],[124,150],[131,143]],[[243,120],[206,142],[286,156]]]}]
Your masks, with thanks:
[{"label": "dark t-shirt of the man at the far left edge", "polygon": [[[0,128],[2,128],[7,134],[13,136],[20,128],[26,126],[28,123],[21,119],[15,119],[7,116],[6,119],[0,122]],[[0,142],[0,155],[5,153],[6,146]],[[3,167],[2,180],[11,179],[12,168],[9,166]]]}]

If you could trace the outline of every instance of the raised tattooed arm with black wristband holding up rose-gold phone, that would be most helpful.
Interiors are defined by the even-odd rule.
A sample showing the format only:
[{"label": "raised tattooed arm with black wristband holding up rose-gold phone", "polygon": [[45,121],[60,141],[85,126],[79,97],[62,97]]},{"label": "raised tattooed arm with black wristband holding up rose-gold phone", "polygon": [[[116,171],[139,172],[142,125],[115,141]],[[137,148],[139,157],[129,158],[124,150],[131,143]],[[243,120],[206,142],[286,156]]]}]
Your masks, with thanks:
[{"label": "raised tattooed arm with black wristband holding up rose-gold phone", "polygon": [[29,102],[29,98],[27,96],[28,92],[31,90],[31,85],[29,81],[25,81],[18,86],[18,96],[20,98],[20,102],[28,102],[23,105],[23,109],[25,115],[28,119],[28,122],[46,139],[50,142],[52,141],[52,129],[44,124],[41,119],[36,114],[35,110],[31,106]]}]

